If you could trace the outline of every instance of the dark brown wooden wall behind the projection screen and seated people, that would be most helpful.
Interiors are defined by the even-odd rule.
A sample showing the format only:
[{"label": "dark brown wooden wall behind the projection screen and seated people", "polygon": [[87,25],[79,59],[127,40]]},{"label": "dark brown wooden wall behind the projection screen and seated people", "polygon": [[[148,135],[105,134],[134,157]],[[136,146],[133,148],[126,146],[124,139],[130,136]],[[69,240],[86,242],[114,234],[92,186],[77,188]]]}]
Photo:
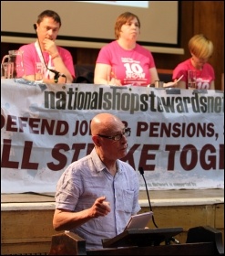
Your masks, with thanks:
[{"label": "dark brown wooden wall behind the projection screen and seated people", "polygon": [[[153,52],[158,69],[174,69],[180,61],[188,59],[189,38],[203,33],[214,44],[214,54],[210,64],[215,69],[216,89],[221,89],[221,74],[224,73],[224,1],[182,1],[180,12],[180,47],[184,55]],[[140,17],[141,18],[141,17]],[[4,22],[4,21],[3,21]],[[152,25],[152,29],[154,26]],[[20,44],[1,43],[1,58],[9,49],[18,48]],[[99,49],[68,48],[77,64],[95,64]]]}]

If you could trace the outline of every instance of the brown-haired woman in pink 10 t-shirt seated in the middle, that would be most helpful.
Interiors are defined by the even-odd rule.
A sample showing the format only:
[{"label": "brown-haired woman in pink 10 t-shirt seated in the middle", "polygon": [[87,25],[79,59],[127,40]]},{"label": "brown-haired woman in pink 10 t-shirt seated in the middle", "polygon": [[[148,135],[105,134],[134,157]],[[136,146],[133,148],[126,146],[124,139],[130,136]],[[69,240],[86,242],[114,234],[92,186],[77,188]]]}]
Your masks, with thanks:
[{"label": "brown-haired woman in pink 10 t-shirt seated in the middle", "polygon": [[95,84],[148,86],[159,80],[151,52],[137,43],[139,33],[138,16],[128,12],[118,16],[116,40],[99,51]]}]

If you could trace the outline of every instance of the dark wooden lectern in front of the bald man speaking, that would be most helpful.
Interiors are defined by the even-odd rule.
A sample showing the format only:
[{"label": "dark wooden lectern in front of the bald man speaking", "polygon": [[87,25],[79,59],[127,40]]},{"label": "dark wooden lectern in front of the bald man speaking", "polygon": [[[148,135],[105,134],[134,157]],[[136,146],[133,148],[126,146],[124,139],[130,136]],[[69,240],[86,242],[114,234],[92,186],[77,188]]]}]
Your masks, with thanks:
[{"label": "dark wooden lectern in front of the bald man speaking", "polygon": [[[49,255],[224,255],[222,233],[210,226],[189,229],[183,244],[169,244],[182,228],[128,229],[103,240],[103,249],[86,250],[86,240],[67,232],[52,237]],[[165,243],[164,243],[165,241]]]}]

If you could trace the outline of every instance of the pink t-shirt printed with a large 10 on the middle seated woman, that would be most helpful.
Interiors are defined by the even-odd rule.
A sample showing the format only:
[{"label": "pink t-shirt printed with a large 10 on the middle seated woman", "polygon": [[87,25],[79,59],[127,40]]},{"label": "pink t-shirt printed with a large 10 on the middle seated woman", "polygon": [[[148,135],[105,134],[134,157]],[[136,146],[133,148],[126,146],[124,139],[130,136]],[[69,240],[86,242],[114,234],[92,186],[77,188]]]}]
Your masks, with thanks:
[{"label": "pink t-shirt printed with a large 10 on the middle seated woman", "polygon": [[117,41],[100,49],[97,63],[115,68],[115,78],[121,80],[122,85],[147,86],[150,83],[149,69],[155,67],[154,59],[148,49],[136,44],[135,48],[126,50],[121,48]]}]

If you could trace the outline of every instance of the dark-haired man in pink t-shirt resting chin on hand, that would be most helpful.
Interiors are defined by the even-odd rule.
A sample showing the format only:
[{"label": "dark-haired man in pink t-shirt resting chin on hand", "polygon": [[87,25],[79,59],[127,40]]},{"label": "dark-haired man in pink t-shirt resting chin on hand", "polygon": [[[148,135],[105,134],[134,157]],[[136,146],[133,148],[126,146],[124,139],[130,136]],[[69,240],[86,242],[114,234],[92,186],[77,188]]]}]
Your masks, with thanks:
[{"label": "dark-haired man in pink t-shirt resting chin on hand", "polygon": [[43,63],[44,82],[71,83],[75,79],[73,58],[68,50],[56,46],[56,37],[61,27],[60,16],[46,10],[38,17],[36,24],[37,40],[19,48],[23,51],[25,79],[36,80],[36,62]]}]

